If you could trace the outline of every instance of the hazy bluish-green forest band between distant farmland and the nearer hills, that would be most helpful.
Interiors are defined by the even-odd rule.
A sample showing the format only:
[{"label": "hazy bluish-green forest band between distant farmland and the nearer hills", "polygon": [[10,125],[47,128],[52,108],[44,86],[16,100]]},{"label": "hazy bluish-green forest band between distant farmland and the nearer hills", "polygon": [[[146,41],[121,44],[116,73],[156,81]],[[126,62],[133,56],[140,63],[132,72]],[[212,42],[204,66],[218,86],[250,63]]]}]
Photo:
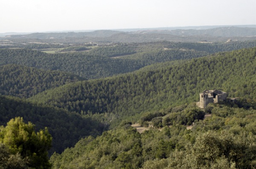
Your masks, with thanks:
[{"label": "hazy bluish-green forest band between distant farmland and the nearer hills", "polygon": [[253,42],[116,44],[88,52],[46,54],[29,49],[0,49],[0,65],[16,64],[98,79],[132,72],[158,62],[192,59],[221,51],[256,46]]}]

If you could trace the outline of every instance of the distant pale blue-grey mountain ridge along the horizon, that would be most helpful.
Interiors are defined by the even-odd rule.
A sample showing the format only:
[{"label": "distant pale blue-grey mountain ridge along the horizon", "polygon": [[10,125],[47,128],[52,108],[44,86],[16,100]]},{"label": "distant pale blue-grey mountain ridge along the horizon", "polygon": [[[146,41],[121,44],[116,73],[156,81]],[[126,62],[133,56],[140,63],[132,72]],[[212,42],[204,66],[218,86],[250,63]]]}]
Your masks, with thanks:
[{"label": "distant pale blue-grey mountain ridge along the horizon", "polygon": [[[249,26],[249,25],[248,25]],[[207,29],[205,29],[207,28]],[[120,30],[97,30],[88,32],[61,32],[61,33],[33,33],[33,34],[14,34],[8,35],[9,38],[22,38],[22,39],[63,39],[63,38],[106,38],[110,37],[111,40],[118,39],[119,36],[124,34],[128,36],[140,36],[141,34],[169,34],[174,36],[212,36],[212,37],[255,37],[256,25],[253,27],[241,26],[224,26],[224,27],[184,27],[184,28],[148,28],[148,29],[122,29]],[[131,35],[132,34],[132,35]],[[144,35],[145,36],[145,35]],[[160,35],[161,36],[161,35]],[[100,39],[99,39],[100,41]]]}]

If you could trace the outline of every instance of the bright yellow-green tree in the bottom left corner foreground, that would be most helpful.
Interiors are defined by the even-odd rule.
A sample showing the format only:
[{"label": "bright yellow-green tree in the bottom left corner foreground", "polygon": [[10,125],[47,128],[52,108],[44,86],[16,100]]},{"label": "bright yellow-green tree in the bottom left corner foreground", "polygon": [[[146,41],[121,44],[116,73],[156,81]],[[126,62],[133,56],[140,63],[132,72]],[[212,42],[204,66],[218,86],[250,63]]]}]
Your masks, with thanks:
[{"label": "bright yellow-green tree in the bottom left corner foreground", "polygon": [[6,146],[13,155],[20,155],[27,165],[36,169],[51,168],[47,150],[50,149],[52,136],[47,128],[35,132],[35,125],[23,122],[23,118],[11,119],[6,127],[0,127],[0,144]]}]

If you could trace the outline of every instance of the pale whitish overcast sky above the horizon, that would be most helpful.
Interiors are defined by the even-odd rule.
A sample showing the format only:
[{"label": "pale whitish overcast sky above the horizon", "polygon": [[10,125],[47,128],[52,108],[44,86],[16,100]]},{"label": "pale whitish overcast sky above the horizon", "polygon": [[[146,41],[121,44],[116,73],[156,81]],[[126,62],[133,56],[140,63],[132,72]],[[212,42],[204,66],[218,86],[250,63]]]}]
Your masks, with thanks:
[{"label": "pale whitish overcast sky above the horizon", "polygon": [[0,33],[256,25],[256,0],[0,0]]}]

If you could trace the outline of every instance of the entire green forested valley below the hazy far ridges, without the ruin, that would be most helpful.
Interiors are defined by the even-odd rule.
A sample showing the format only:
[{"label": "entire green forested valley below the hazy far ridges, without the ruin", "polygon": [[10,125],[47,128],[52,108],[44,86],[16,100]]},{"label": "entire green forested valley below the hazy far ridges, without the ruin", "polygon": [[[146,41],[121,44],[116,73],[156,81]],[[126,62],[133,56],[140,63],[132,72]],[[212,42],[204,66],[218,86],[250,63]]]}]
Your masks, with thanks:
[{"label": "entire green forested valley below the hazy far ridges, without the ruin", "polygon": [[[0,45],[2,168],[256,168],[256,41],[19,41]],[[205,89],[228,99],[200,109]]]}]

